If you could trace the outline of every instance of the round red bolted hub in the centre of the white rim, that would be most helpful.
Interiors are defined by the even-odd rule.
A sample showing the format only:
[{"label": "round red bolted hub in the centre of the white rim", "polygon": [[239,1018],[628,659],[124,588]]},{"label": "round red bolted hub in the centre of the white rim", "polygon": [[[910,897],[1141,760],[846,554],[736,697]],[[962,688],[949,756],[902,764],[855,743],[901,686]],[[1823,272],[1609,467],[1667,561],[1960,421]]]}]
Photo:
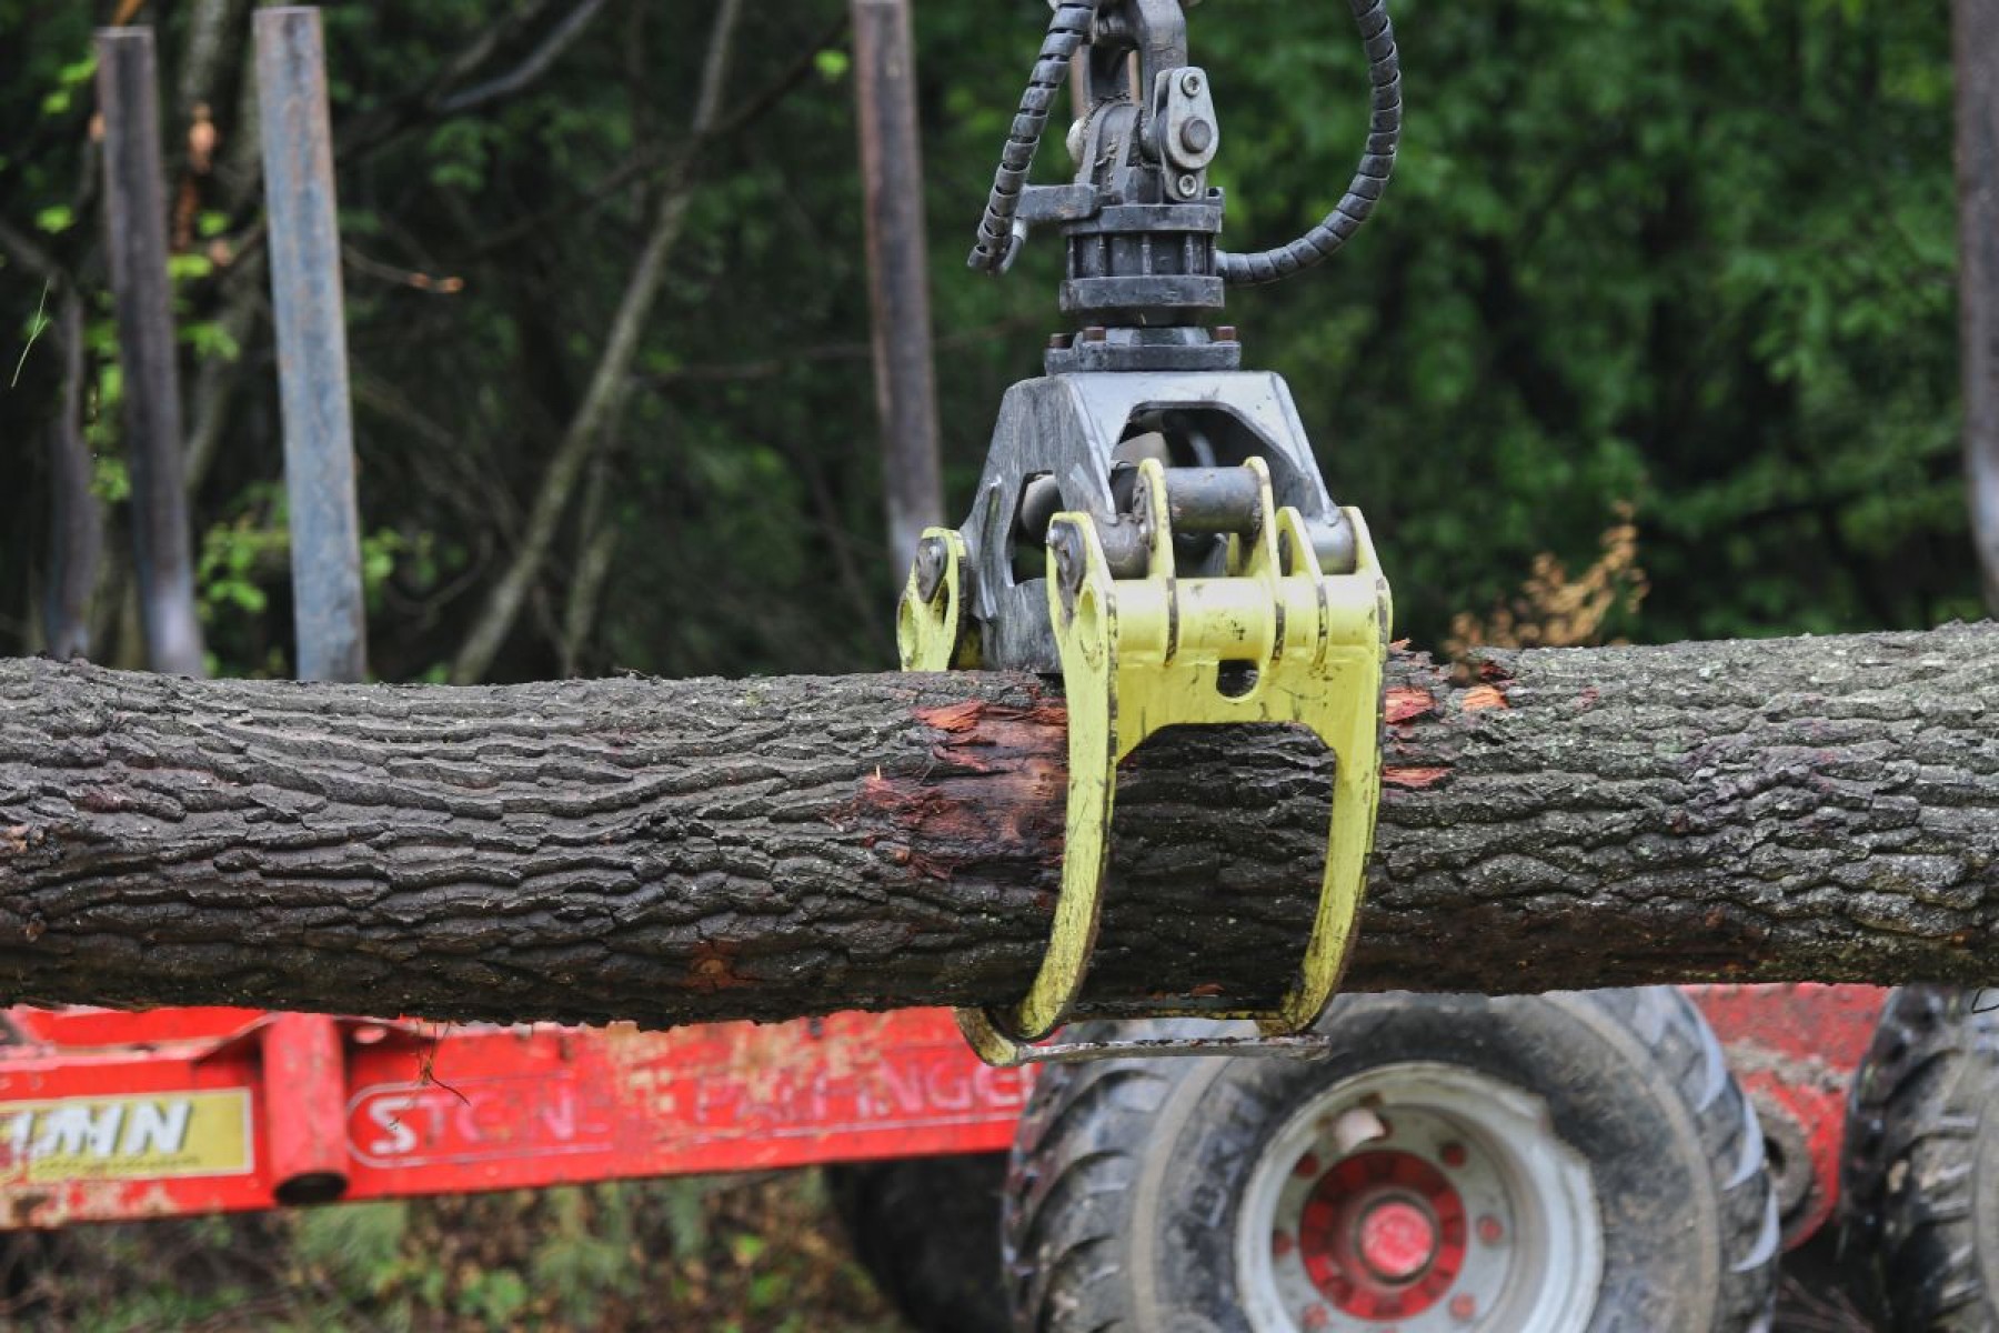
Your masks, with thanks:
[{"label": "round red bolted hub in the centre of the white rim", "polygon": [[1449,1293],[1465,1265],[1465,1205],[1413,1153],[1335,1161],[1305,1197],[1297,1251],[1311,1283],[1355,1319],[1409,1319]]}]

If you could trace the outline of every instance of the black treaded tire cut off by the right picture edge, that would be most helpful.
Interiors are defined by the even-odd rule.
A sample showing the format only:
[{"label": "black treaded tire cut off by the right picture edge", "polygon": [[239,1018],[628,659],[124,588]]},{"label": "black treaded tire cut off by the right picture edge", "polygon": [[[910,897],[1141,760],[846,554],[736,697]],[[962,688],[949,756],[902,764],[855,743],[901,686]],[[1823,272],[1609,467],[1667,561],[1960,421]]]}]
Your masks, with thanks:
[{"label": "black treaded tire cut off by the right picture edge", "polygon": [[1885,1327],[1999,1329],[1999,991],[1905,985],[1853,1077],[1841,1245]]}]

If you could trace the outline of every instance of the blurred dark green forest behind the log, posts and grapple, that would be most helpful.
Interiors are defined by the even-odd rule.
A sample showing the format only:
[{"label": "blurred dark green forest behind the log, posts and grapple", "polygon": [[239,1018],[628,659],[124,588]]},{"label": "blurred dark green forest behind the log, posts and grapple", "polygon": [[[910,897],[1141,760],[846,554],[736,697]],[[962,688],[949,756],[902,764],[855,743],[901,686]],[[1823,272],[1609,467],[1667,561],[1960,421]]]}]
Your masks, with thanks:
[{"label": "blurred dark green forest behind the log, posts and grapple", "polygon": [[[0,654],[46,644],[48,460],[68,402],[106,524],[90,656],[140,662],[90,30],[146,22],[208,650],[220,673],[290,673],[248,8],[0,0]],[[740,22],[704,116],[720,12]],[[846,4],[324,14],[374,673],[892,666],[902,572],[880,500]],[[916,6],[952,522],[1000,394],[1037,374],[1057,328],[1059,246],[1029,246],[1000,282],[964,268],[1045,16],[1043,0]],[[1649,642],[1977,616],[1949,6],[1397,0],[1393,16],[1409,128],[1385,206],[1325,270],[1231,296],[1229,320],[1251,364],[1289,378],[1333,494],[1367,512],[1399,632],[1533,638],[1577,588],[1583,632]],[[1337,196],[1363,136],[1345,6],[1223,2],[1191,30],[1221,108],[1231,244],[1285,240]],[[1037,174],[1065,174],[1055,142]],[[636,318],[628,358],[606,354],[620,314]],[[512,616],[494,602],[510,576],[524,590]],[[748,1189],[718,1197],[818,1235],[810,1187]],[[530,1311],[516,1287],[538,1263],[560,1269],[548,1237],[604,1227],[624,1255],[598,1255],[606,1271],[644,1251],[682,1279],[848,1281],[796,1251],[770,1267],[756,1239],[770,1227],[730,1221],[738,1203],[704,1193],[688,1211],[654,1191],[522,1201],[518,1217],[570,1211],[520,1253],[440,1259],[432,1285],[400,1255],[440,1253],[424,1239],[438,1217],[486,1205],[376,1213],[376,1231],[216,1223],[224,1247],[252,1231],[332,1239],[304,1257],[248,1245],[276,1255],[264,1277],[154,1295],[240,1279],[322,1291],[358,1327],[510,1327]],[[668,1221],[640,1245],[648,1209]],[[160,1259],[168,1241],[148,1245],[178,1271]],[[104,1327],[146,1325],[118,1323],[120,1301],[140,1299],[130,1285],[104,1291]],[[866,1321],[852,1327],[878,1327],[872,1297],[852,1301]],[[618,1327],[612,1307],[558,1305],[538,1319]]]}]

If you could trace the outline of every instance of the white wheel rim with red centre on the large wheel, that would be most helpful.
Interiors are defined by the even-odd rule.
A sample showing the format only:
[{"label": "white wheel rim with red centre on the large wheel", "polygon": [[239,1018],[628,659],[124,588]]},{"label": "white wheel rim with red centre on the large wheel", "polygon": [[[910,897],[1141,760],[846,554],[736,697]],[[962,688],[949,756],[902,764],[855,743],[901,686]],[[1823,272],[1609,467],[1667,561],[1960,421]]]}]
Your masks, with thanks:
[{"label": "white wheel rim with red centre on the large wheel", "polygon": [[1603,1223],[1539,1097],[1461,1065],[1379,1065],[1263,1147],[1235,1273],[1255,1333],[1583,1333]]}]

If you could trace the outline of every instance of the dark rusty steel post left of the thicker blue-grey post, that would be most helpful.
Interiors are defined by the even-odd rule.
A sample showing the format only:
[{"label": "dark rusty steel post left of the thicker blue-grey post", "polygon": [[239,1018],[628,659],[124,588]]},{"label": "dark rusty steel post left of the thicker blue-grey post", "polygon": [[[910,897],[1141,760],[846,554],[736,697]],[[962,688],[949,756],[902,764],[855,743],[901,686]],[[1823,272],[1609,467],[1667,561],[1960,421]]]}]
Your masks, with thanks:
[{"label": "dark rusty steel post left of the thicker blue-grey post", "polygon": [[146,666],[200,675],[202,626],[194,616],[152,28],[102,28],[96,48],[98,106],[104,112],[104,244],[124,372],[132,546]]}]

